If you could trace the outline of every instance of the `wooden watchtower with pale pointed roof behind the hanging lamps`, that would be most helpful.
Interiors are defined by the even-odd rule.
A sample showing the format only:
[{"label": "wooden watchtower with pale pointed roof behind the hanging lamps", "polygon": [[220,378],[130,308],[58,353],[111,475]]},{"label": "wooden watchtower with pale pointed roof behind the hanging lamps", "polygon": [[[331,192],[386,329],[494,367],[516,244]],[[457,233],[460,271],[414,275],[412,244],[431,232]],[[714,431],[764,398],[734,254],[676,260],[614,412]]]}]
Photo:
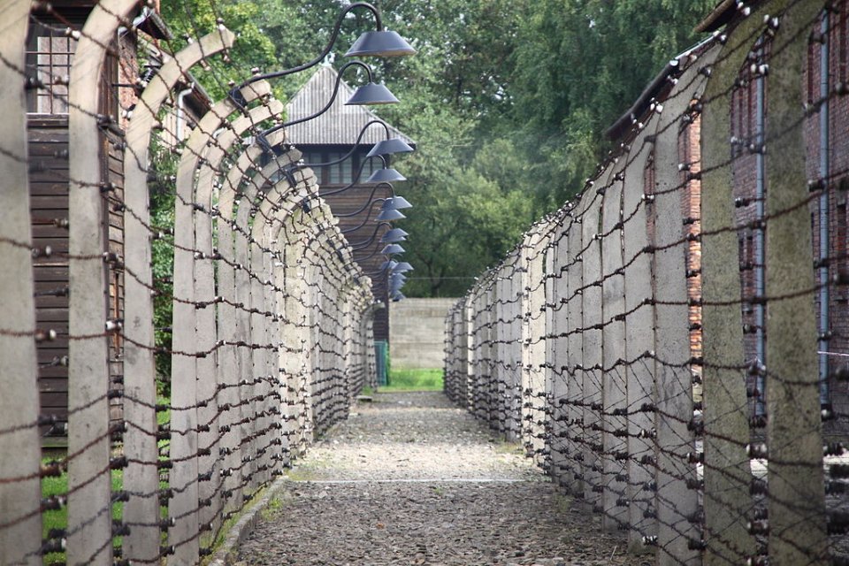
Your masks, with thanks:
[{"label": "wooden watchtower with pale pointed roof behind the hanging lamps", "polygon": [[[321,111],[333,96],[338,76],[333,67],[320,67],[288,103],[287,119],[302,119]],[[348,84],[340,81],[339,94],[328,111],[316,119],[288,127],[287,138],[302,151],[304,163],[310,164],[315,170],[319,195],[330,204],[333,214],[339,218],[340,229],[356,250],[357,262],[364,272],[370,274],[375,298],[386,304],[386,309],[375,313],[374,339],[389,340],[390,301],[386,278],[377,273],[380,264],[386,259],[380,254],[384,247],[380,237],[389,226],[376,222],[375,218],[382,203],[379,199],[392,194],[387,187],[364,184],[372,171],[383,166],[378,157],[369,158],[366,154],[375,143],[386,139],[386,130],[379,125],[369,126],[351,157],[338,164],[321,165],[346,156],[354,149],[363,127],[379,119],[366,106],[346,106],[345,102],[353,93],[354,90]],[[392,137],[399,137],[415,145],[393,126],[388,126],[388,129]],[[352,186],[339,192],[348,185]],[[370,200],[373,201],[371,205],[368,204]]]}]

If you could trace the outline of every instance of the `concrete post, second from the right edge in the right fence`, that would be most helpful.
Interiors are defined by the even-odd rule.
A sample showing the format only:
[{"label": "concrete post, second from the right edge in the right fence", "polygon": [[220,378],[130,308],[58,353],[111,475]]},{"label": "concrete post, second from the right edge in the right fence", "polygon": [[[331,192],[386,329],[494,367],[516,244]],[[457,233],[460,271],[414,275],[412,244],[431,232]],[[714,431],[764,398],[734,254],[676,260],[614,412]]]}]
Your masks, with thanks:
[{"label": "concrete post, second from the right edge in the right fence", "polygon": [[[722,51],[720,51],[722,52]],[[740,50],[712,68],[705,96],[714,100],[701,116],[702,170],[701,240],[703,281],[702,329],[703,403],[705,427],[705,564],[739,562],[755,553],[755,540],[746,528],[753,501],[749,493],[752,470],[746,455],[750,439],[740,310],[740,257],[734,226],[735,207],[729,155],[730,96],[722,94],[736,79],[743,57]],[[714,55],[711,58],[718,57]],[[725,164],[725,165],[723,165]]]}]

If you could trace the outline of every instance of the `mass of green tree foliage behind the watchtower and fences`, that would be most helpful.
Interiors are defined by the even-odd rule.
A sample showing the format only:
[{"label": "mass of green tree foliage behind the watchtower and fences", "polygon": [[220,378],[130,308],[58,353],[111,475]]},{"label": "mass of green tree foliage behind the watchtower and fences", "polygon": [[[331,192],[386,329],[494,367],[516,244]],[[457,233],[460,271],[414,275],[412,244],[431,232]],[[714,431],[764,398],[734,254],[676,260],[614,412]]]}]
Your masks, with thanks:
[{"label": "mass of green tree foliage behind the watchtower and fences", "polygon": [[[608,149],[602,132],[677,53],[716,0],[377,0],[416,57],[372,59],[402,103],[379,111],[417,142],[396,190],[416,208],[402,227],[417,268],[409,295],[461,294],[534,218],[577,194]],[[169,24],[199,35],[223,19],[233,64],[202,76],[214,96],[248,70],[300,65],[329,41],[341,0],[163,0]],[[344,19],[330,61],[367,11]],[[300,76],[303,75],[303,76]],[[309,77],[275,85],[291,96]],[[358,82],[346,74],[345,80]]]}]

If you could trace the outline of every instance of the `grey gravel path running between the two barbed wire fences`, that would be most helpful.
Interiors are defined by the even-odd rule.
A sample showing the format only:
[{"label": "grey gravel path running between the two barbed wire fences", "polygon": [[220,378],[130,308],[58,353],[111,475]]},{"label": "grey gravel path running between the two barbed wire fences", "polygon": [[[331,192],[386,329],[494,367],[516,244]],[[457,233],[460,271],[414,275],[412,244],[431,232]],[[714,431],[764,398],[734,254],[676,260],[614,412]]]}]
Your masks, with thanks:
[{"label": "grey gravel path running between the two barbed wire fences", "polygon": [[240,564],[652,562],[440,393],[358,403],[289,477]]}]

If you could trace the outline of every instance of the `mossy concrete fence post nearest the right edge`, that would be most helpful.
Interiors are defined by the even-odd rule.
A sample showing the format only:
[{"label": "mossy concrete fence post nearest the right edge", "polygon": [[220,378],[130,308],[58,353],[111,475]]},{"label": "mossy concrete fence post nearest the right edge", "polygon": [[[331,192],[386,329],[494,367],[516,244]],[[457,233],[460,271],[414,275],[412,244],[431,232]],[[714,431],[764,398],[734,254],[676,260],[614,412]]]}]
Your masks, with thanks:
[{"label": "mossy concrete fence post nearest the right edge", "polygon": [[[790,5],[790,2],[782,4]],[[819,6],[817,4],[820,4]],[[776,563],[830,563],[822,471],[817,326],[811,217],[800,187],[807,185],[804,123],[799,121],[801,69],[807,62],[809,23],[822,3],[802,3],[781,19],[769,55],[766,152],[766,292],[792,297],[767,302],[767,442],[769,555]],[[843,12],[845,18],[845,12]],[[785,210],[788,213],[778,214]]]}]

